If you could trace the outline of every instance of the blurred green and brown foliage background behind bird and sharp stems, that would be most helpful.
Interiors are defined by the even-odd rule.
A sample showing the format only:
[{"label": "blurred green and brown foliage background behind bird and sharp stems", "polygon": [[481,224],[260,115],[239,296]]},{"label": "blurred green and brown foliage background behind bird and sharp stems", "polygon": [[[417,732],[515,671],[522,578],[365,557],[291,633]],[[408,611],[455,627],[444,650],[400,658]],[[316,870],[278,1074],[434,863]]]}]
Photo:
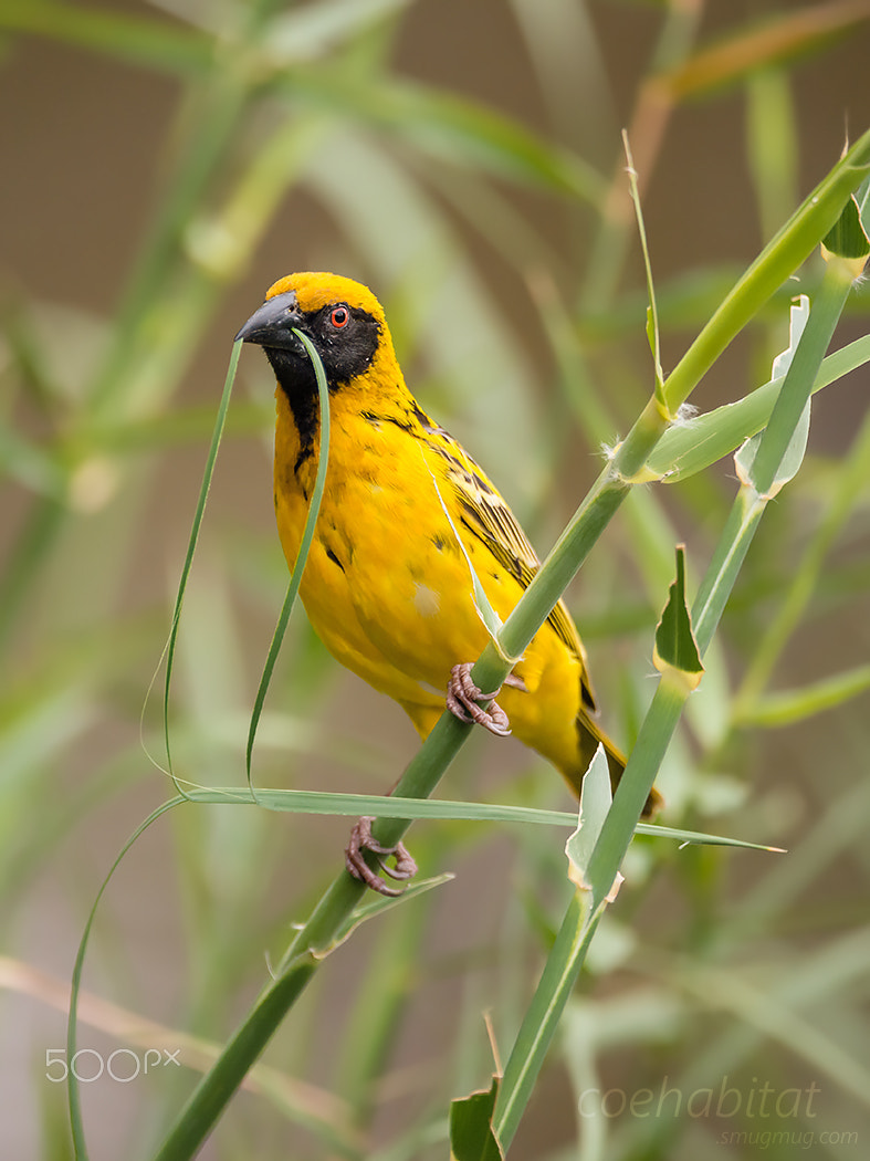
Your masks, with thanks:
[{"label": "blurred green and brown foliage background behind bird and sharp stems", "polygon": [[[232,338],[266,288],[298,269],[371,286],[412,389],[543,554],[652,387],[621,130],[667,370],[870,125],[870,3],[0,0],[0,1123],[5,1155],[53,1159],[70,1155],[52,1081],[78,940],[113,859],[173,793],[152,675]],[[733,344],[699,409],[769,377],[790,295],[818,276],[813,260]],[[858,288],[838,345],[869,316]],[[867,390],[861,370],[817,396],[807,461],[764,518],[660,778],[662,821],[789,853],[635,844],[512,1158],[865,1154]],[[271,394],[244,351],[171,705],[176,772],[202,785],[244,784],[287,584]],[[732,474],[639,491],[570,591],[626,747],[674,545],[696,584]],[[383,792],[415,749],[299,608],[258,784]],[[442,793],[570,806],[543,760],[491,737]],[[136,843],[85,968],[95,1158],[153,1152],[347,829],[186,807]],[[564,910],[561,844],[416,825],[422,871],[457,878],[331,958],[203,1156],[445,1155],[449,1101],[493,1069],[483,1014],[506,1055]]]}]

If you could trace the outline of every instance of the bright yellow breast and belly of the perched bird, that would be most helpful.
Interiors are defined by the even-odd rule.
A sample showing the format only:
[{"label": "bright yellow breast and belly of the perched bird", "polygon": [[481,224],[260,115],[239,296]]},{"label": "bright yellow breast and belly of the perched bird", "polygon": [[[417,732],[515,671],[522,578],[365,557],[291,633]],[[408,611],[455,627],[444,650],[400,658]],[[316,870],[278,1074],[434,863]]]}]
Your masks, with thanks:
[{"label": "bright yellow breast and belly of the perched bird", "polygon": [[[295,428],[278,401],[275,509],[288,563],[296,562],[307,500],[293,474]],[[473,599],[469,564],[444,514],[433,471],[398,428],[372,430],[333,416],[327,486],[300,596],[329,651],[375,688],[399,701],[421,736],[444,708],[457,662],[474,661],[487,630]],[[288,426],[289,425],[289,426]],[[283,441],[283,446],[282,446]],[[313,456],[311,463],[313,482]],[[306,486],[310,491],[310,486]],[[441,497],[445,499],[445,497]],[[522,587],[466,533],[463,546],[492,606],[505,619]],[[528,692],[500,695],[514,734],[560,770],[577,765],[581,663],[549,625],[515,672]]]}]

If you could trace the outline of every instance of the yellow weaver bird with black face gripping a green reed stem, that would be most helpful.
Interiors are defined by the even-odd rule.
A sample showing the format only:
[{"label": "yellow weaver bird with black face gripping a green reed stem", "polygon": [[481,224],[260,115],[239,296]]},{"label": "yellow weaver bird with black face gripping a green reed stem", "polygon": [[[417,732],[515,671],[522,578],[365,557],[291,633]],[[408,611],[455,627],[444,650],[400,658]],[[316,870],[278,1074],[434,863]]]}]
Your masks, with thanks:
[{"label": "yellow weaver bird with black face gripping a green reed stem", "polygon": [[[471,569],[503,620],[541,562],[484,469],[411,394],[372,291],[324,272],[280,279],[235,337],[263,348],[276,378],[275,515],[290,570],[320,453],[316,374],[295,331],[317,349],[329,397],[326,484],[299,586],[322,643],[393,698],[423,740],[448,707],[495,734],[513,731],[575,795],[601,743],[616,785],[625,758],[597,722],[586,650],[563,601],[500,692],[473,685],[471,659],[488,630]],[[660,801],[653,791],[645,815]],[[398,879],[413,874],[413,858],[401,844],[378,848],[370,822],[355,829],[348,870],[393,894],[363,852],[394,854],[394,868],[382,866]]]}]

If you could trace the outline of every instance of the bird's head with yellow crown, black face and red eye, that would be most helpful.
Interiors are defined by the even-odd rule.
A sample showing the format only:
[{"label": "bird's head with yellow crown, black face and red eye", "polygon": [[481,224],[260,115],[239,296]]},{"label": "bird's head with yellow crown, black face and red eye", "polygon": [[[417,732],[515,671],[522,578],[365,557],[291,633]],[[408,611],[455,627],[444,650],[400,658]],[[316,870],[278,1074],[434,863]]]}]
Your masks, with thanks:
[{"label": "bird's head with yellow crown, black face and red eye", "polygon": [[313,342],[332,391],[365,374],[376,359],[394,359],[383,308],[368,287],[338,274],[289,274],[269,287],[235,338],[263,347],[291,401],[317,390],[295,330]]}]

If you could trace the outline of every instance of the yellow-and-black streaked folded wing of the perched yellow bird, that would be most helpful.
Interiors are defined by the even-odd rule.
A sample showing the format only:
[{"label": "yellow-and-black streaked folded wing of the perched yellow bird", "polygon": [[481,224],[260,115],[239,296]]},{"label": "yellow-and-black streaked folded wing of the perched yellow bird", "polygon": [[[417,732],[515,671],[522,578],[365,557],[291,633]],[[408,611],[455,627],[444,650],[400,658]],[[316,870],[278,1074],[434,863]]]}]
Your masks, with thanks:
[{"label": "yellow-and-black streaked folded wing of the perched yellow bird", "polygon": [[[445,476],[455,491],[461,522],[483,541],[495,560],[519,580],[523,589],[528,589],[541,568],[541,561],[516,517],[492,486],[485,473],[452,437],[443,428],[437,431],[436,439],[432,439],[432,434],[435,433],[430,433],[427,444],[445,461]],[[548,622],[580,662],[583,705],[594,712],[595,697],[589,684],[586,650],[577,626],[561,601],[550,613]]]}]

